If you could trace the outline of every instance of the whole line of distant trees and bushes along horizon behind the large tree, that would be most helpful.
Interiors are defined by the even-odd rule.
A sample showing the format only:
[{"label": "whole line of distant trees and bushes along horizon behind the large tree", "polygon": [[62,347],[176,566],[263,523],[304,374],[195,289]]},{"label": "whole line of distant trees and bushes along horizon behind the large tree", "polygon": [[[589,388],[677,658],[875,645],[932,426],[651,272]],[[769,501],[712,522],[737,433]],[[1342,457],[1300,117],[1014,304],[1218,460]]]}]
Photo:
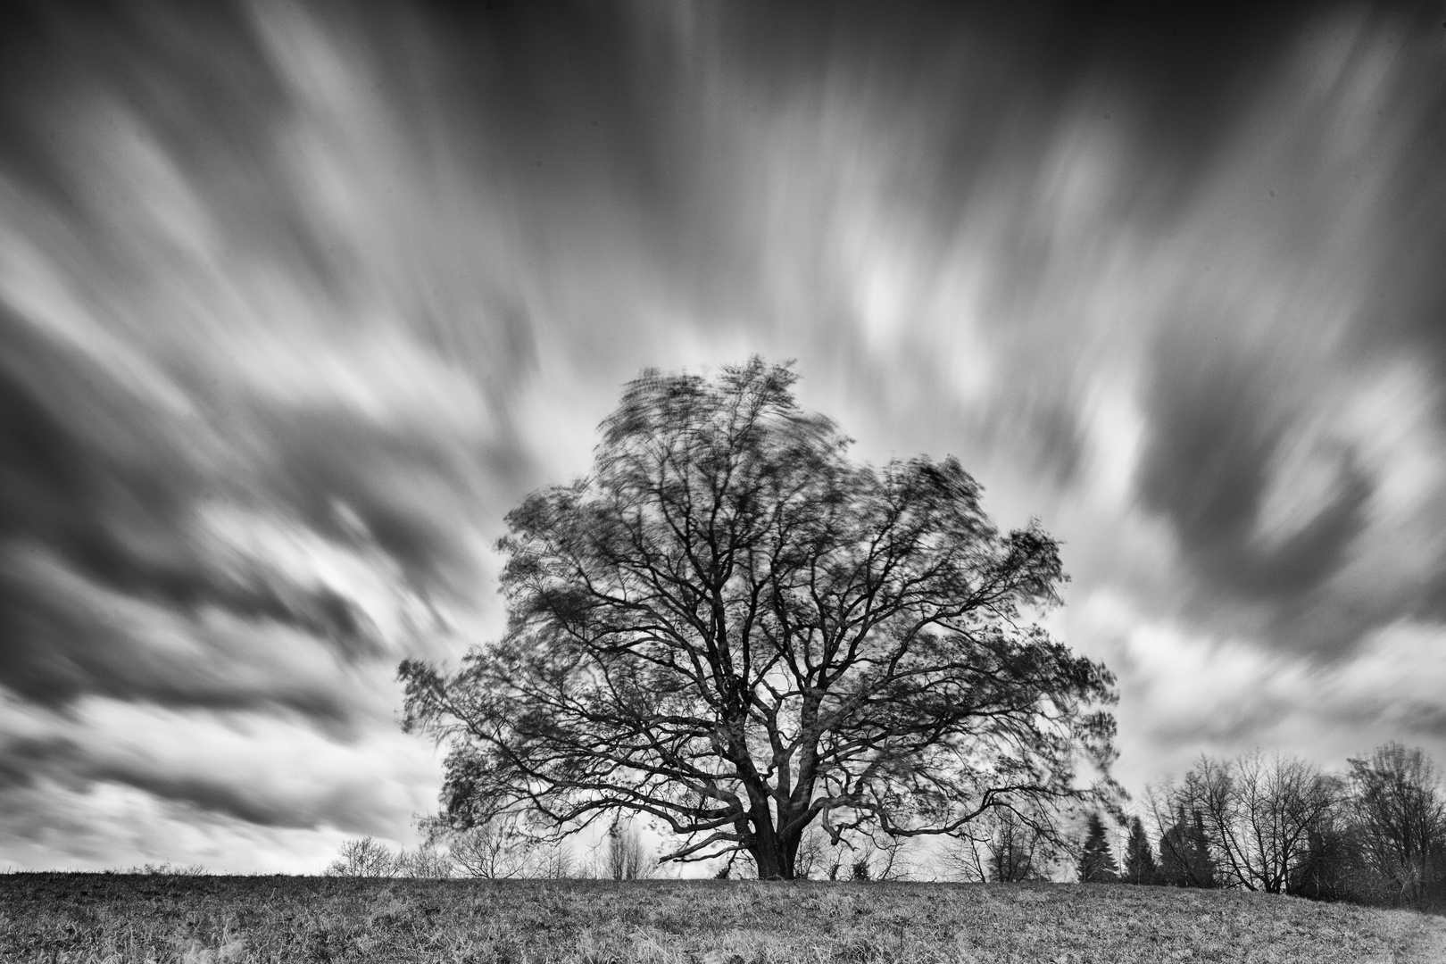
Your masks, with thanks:
[{"label": "whole line of distant trees and bushes along horizon behind the large tree", "polygon": [[[1011,883],[1058,880],[1063,864],[1083,883],[1231,887],[1446,911],[1446,792],[1440,767],[1417,747],[1387,743],[1349,760],[1345,773],[1258,750],[1202,756],[1180,780],[1150,788],[1141,809],[1121,821],[1124,838],[1112,847],[1112,821],[1098,812],[1083,838],[1061,845],[1038,811],[996,806],[931,847],[927,869],[905,853],[907,838],[830,844],[810,827],[797,870],[800,879],[937,880],[943,872],[953,880]],[[534,838],[518,821],[463,830],[434,819],[428,830],[415,851],[347,841],[327,873],[632,880],[655,870],[626,821],[616,821],[586,860],[574,858],[565,840]],[[732,870],[730,860],[717,876]]]}]

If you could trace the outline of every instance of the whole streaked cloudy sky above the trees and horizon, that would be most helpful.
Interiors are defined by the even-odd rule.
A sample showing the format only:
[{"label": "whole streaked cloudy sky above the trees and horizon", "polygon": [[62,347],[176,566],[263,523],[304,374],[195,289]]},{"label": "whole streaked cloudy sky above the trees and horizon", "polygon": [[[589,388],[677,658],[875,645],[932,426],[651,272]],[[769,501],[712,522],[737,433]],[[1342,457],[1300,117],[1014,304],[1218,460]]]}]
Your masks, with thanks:
[{"label": "whole streaked cloudy sky above the trees and horizon", "polygon": [[1063,542],[1137,802],[1446,763],[1446,12],[1157,6],[7,4],[0,867],[414,845],[398,662],[755,353]]}]

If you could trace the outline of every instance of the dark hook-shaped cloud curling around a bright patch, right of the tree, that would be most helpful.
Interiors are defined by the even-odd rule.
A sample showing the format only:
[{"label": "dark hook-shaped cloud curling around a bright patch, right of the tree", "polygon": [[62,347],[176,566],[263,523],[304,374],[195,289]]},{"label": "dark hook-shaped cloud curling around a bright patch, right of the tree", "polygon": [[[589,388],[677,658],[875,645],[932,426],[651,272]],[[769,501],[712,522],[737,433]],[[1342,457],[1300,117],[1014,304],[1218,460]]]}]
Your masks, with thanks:
[{"label": "dark hook-shaped cloud curling around a bright patch, right of the tree", "polygon": [[1369,477],[1342,457],[1329,503],[1270,539],[1262,503],[1293,425],[1268,363],[1190,338],[1157,366],[1137,477],[1144,506],[1170,520],[1186,559],[1219,591],[1288,606],[1320,587],[1364,525]]}]

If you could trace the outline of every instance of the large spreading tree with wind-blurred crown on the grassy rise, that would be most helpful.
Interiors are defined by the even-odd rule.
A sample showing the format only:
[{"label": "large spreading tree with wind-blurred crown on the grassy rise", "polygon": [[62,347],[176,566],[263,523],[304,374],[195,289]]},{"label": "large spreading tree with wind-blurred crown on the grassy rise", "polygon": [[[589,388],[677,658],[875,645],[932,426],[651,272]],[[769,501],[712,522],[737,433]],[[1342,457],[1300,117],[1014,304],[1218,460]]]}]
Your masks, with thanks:
[{"label": "large spreading tree with wind-blurred crown on the grassy rise", "polygon": [[451,746],[444,819],[630,814],[665,860],[791,879],[816,822],[959,834],[1115,791],[1113,678],[1025,620],[1056,542],[995,529],[954,458],[850,461],[795,379],[648,370],[593,473],[508,516],[506,634],[401,666],[406,726]]}]

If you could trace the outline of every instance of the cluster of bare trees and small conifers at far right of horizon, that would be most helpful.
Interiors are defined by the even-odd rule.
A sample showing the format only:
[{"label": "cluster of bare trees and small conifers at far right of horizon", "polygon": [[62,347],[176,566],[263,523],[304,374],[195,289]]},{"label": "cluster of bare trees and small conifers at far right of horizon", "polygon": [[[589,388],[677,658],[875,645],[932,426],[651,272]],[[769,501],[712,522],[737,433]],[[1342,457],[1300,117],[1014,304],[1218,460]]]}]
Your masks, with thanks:
[{"label": "cluster of bare trees and small conifers at far right of horizon", "polygon": [[1416,747],[1387,743],[1343,775],[1259,752],[1202,756],[1178,782],[1151,788],[1147,809],[1126,824],[1121,864],[1092,818],[1080,880],[1446,908],[1446,796]]}]

